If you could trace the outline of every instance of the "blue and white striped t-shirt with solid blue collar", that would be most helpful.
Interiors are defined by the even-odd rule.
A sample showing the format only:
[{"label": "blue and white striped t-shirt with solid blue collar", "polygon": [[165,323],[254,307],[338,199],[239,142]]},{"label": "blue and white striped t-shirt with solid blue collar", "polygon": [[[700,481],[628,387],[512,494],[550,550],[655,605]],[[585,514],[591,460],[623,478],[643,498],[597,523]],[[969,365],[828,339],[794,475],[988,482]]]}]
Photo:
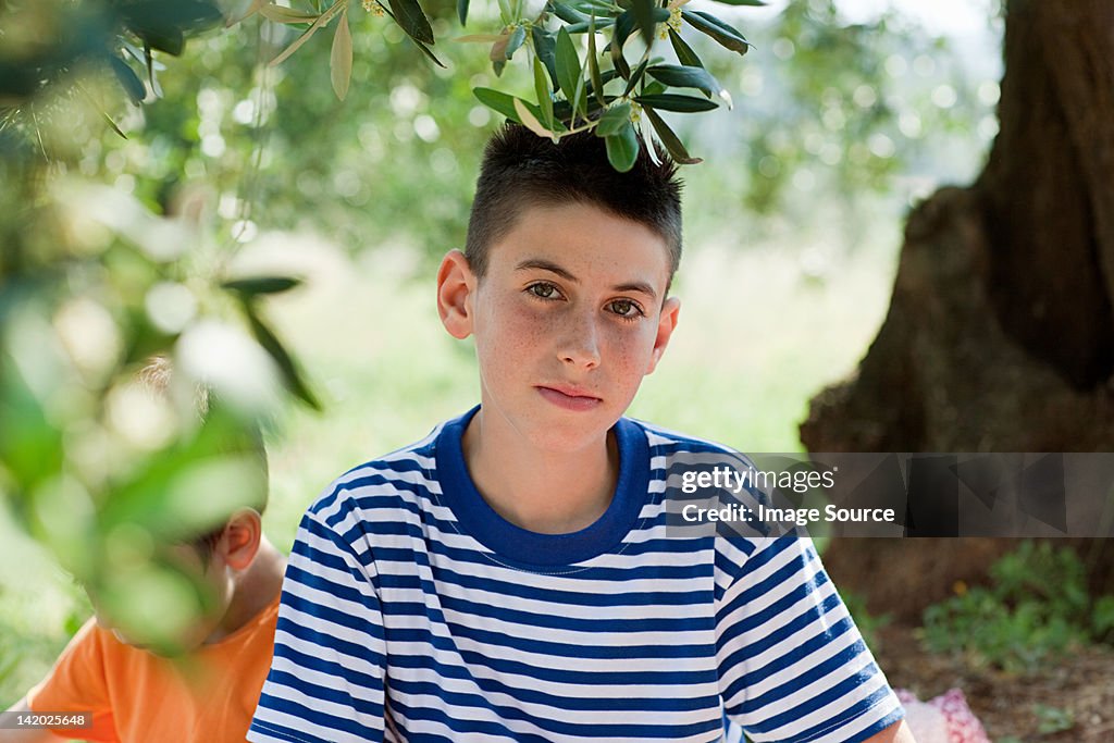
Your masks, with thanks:
[{"label": "blue and white striped t-shirt with solid blue collar", "polygon": [[592,526],[496,514],[475,410],[333,482],[302,519],[263,742],[863,741],[901,707],[805,537],[666,525],[670,461],[725,451],[623,419]]}]

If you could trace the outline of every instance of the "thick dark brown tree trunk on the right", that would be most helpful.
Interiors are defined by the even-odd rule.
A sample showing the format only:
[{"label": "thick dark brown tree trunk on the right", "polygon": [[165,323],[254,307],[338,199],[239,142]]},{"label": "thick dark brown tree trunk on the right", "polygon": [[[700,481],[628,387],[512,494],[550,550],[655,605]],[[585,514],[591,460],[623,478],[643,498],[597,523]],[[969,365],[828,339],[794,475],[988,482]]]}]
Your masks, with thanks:
[{"label": "thick dark brown tree trunk on the right", "polygon": [[[1114,2],[1009,0],[1005,60],[986,169],[910,215],[878,336],[801,426],[812,451],[1114,450]],[[946,559],[925,590],[891,579],[908,614],[1004,547],[843,540],[830,563],[898,595],[869,553]]]}]

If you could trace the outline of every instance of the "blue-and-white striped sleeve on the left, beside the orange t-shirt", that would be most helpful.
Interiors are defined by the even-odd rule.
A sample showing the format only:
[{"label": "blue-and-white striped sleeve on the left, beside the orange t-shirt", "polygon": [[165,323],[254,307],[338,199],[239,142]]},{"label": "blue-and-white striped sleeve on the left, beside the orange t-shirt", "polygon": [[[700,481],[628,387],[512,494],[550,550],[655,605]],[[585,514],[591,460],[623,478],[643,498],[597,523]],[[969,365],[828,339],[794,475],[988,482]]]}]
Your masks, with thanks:
[{"label": "blue-and-white striped sleeve on the left, beside the orange t-shirt", "polygon": [[247,740],[382,741],[385,646],[378,574],[351,508],[302,519],[283,581],[271,671]]}]

